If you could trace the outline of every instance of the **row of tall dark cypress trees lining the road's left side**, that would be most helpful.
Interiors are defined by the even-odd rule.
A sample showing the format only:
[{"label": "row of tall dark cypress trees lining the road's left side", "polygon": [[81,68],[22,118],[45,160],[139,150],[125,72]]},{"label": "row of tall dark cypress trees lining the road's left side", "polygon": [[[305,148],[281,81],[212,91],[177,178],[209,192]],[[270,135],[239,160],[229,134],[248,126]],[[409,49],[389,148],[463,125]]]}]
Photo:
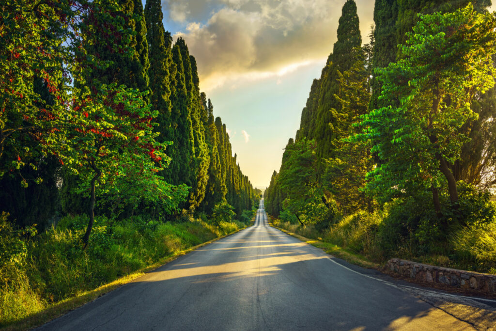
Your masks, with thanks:
[{"label": "row of tall dark cypress trees lining the road's left side", "polygon": [[[91,32],[84,36],[88,54],[112,64],[89,70],[83,83],[95,80],[148,91],[144,98],[159,110],[156,140],[173,142],[166,150],[171,157],[169,167],[160,175],[170,184],[190,187],[183,209],[210,213],[222,201],[234,206],[238,215],[251,209],[256,193],[232,154],[226,125],[214,118],[210,100],[199,91],[196,61],[185,40],[179,38],[173,44],[170,32],[164,29],[161,1],[147,0],[144,9],[141,0],[118,2],[121,10],[115,15],[135,32],[130,42],[132,54],[113,52],[102,42],[105,36],[98,35],[105,29],[90,27]],[[41,177],[43,182],[22,188],[16,177],[1,179],[0,210],[9,212],[10,219],[21,226],[43,225],[56,211],[62,215],[87,211],[88,199],[74,190],[78,178],[61,170],[58,162],[44,160],[31,172],[28,175]],[[99,212],[105,213],[106,207],[105,202],[100,203]],[[120,217],[132,214],[133,210],[124,207]]]}]

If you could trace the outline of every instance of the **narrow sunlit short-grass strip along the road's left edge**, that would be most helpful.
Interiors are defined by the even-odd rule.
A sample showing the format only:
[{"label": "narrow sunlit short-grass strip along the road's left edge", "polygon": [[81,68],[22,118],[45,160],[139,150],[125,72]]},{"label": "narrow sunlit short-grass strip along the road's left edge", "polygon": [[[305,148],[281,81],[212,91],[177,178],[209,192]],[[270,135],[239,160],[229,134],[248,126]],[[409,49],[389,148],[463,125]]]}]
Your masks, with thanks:
[{"label": "narrow sunlit short-grass strip along the road's left edge", "polygon": [[256,214],[251,219],[250,225],[248,225],[244,228],[235,230],[235,231],[230,232],[226,235],[214,238],[212,240],[206,241],[206,242],[201,243],[199,245],[190,247],[184,251],[167,256],[167,257],[163,258],[162,260],[155,262],[152,265],[145,266],[144,268],[136,270],[136,271],[129,273],[127,275],[124,275],[124,276],[122,276],[122,277],[120,277],[120,278],[118,278],[118,279],[116,279],[110,283],[99,286],[93,290],[83,292],[76,297],[68,298],[68,299],[59,301],[56,304],[50,305],[46,309],[44,309],[40,312],[37,312],[37,313],[35,313],[35,314],[33,314],[33,315],[23,319],[23,320],[20,320],[18,322],[15,322],[14,324],[2,327],[2,328],[0,328],[0,330],[5,330],[5,331],[31,330],[31,329],[40,327],[40,326],[42,326],[42,325],[44,325],[44,324],[46,324],[46,323],[48,323],[48,322],[50,322],[56,318],[61,317],[62,315],[67,314],[68,312],[70,312],[72,310],[75,310],[79,307],[82,307],[85,304],[90,303],[90,302],[98,299],[99,297],[118,289],[119,287],[121,287],[125,284],[128,284],[128,283],[134,281],[135,279],[143,276],[147,272],[153,271],[153,270],[161,267],[162,265],[166,265],[166,264],[168,264],[174,260],[177,260],[180,257],[182,257],[182,256],[184,256],[184,255],[186,255],[192,251],[197,250],[198,248],[201,248],[203,246],[206,246],[208,244],[211,244],[211,243],[216,242],[218,240],[221,240],[223,238],[229,237],[235,233],[238,233],[242,230],[245,230],[245,229],[253,226],[255,217],[256,217]]}]

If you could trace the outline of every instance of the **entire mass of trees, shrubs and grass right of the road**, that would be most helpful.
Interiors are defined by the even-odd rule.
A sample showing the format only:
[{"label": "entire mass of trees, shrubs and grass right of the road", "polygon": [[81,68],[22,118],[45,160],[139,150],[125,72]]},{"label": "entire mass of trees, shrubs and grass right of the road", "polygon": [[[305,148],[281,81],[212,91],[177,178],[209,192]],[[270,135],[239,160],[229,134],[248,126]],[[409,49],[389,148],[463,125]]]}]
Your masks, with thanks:
[{"label": "entire mass of trees, shrubs and grass right of the road", "polygon": [[346,1],[264,193],[274,225],[374,263],[496,274],[496,15],[468,2],[376,0],[362,46]]}]

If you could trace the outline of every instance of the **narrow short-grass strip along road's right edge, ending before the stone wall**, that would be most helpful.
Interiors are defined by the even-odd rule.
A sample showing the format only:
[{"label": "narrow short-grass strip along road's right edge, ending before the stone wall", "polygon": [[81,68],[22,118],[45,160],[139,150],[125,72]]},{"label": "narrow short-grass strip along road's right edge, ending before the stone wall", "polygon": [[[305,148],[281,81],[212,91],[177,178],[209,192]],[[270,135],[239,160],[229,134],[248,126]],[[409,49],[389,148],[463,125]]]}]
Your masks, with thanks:
[{"label": "narrow short-grass strip along road's right edge, ending before the stone wall", "polygon": [[[279,230],[281,230],[284,233],[289,234],[290,236],[293,236],[295,238],[298,238],[301,241],[306,242],[307,244],[310,244],[312,246],[315,246],[316,248],[320,248],[321,250],[323,250],[327,254],[333,255],[333,256],[338,257],[340,259],[343,259],[343,260],[345,260],[345,261],[347,261],[349,263],[352,263],[354,265],[360,265],[360,266],[363,266],[363,267],[366,267],[366,268],[374,268],[374,269],[378,269],[378,268],[381,267],[380,264],[374,263],[374,262],[368,260],[365,256],[363,256],[361,254],[358,254],[356,252],[352,252],[352,251],[347,250],[345,248],[339,247],[338,245],[335,245],[335,244],[324,242],[324,241],[321,240],[321,238],[310,239],[310,238],[304,237],[304,236],[302,236],[300,234],[291,232],[288,229],[285,229],[285,228],[276,226],[276,225],[274,225],[273,222],[270,222],[269,224],[272,227],[274,227],[276,229],[279,229]],[[278,225],[283,225],[284,226],[285,224],[284,223],[279,223]],[[287,225],[286,225],[286,227],[287,227]],[[298,229],[297,227],[294,227],[293,226],[293,228],[296,229],[296,231],[298,231],[297,230]]]}]

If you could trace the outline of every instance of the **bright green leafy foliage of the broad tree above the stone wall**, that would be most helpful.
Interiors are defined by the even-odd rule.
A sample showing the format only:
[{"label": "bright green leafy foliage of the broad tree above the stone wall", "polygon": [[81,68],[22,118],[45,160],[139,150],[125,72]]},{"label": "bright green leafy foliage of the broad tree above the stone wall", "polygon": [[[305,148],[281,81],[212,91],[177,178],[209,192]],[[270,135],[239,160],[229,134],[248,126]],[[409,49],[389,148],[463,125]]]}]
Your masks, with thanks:
[{"label": "bright green leafy foliage of the broad tree above the stone wall", "polygon": [[372,152],[384,161],[368,175],[369,190],[391,197],[447,181],[451,202],[457,201],[447,164],[459,158],[466,141],[458,128],[477,116],[470,108],[474,94],[494,85],[489,73],[495,71],[495,33],[487,29],[494,24],[493,15],[477,14],[471,6],[422,15],[401,48],[405,59],[379,70],[381,98],[398,98],[400,104],[363,118],[366,132],[359,137],[372,140]]}]

